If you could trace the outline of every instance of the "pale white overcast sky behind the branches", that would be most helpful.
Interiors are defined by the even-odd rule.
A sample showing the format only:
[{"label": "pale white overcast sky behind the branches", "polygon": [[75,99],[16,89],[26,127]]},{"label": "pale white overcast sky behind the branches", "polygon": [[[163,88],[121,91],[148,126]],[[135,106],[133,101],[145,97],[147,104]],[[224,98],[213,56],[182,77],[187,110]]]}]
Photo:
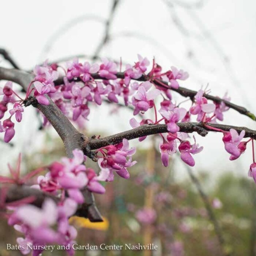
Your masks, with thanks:
[{"label": "pale white overcast sky behind the branches", "polygon": [[[7,49],[24,69],[45,59],[91,55],[102,38],[102,20],[108,18],[111,5],[109,0],[4,1],[0,47]],[[63,34],[58,33],[60,30]],[[256,114],[255,31],[255,0],[121,0],[110,27],[111,40],[99,55],[116,60],[122,57],[131,63],[136,61],[137,53],[150,60],[154,56],[164,70],[174,65],[189,72],[190,77],[182,86],[199,90],[209,83],[212,95],[222,97],[228,91],[231,102]],[[8,67],[4,61],[0,65]],[[173,97],[177,102],[184,99],[175,92]],[[42,132],[37,131],[33,113],[32,107],[26,109],[24,120],[15,124],[15,148],[0,143],[3,172],[7,170],[6,163],[12,162],[20,151],[33,152],[42,145]],[[110,135],[131,128],[131,112],[111,117],[108,113],[109,108],[104,106],[93,110],[89,131],[100,133],[104,129]],[[234,110],[225,113],[222,123],[256,129],[255,121]],[[236,175],[247,175],[252,163],[251,144],[245,154],[231,162],[221,134],[196,138],[204,150],[195,155],[195,172],[207,170],[216,175],[231,170]],[[136,142],[133,140],[132,144]],[[178,178],[182,178],[180,163],[176,170]]]}]

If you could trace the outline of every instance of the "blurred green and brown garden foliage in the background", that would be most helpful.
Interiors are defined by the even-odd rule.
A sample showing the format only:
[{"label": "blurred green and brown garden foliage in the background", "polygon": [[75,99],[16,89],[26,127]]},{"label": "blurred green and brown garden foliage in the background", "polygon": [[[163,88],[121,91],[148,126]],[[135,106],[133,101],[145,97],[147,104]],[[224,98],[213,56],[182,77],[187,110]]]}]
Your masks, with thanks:
[{"label": "blurred green and brown garden foliage in the background", "polygon": [[[33,155],[24,154],[22,169],[30,172],[64,155],[60,139],[53,139],[46,131],[44,147]],[[232,170],[214,182],[207,170],[196,178],[217,220],[217,234],[215,220],[209,218],[195,182],[189,175],[177,181],[179,170],[173,168],[173,163],[178,158],[173,158],[168,168],[163,167],[153,138],[152,147],[138,148],[134,159],[138,163],[129,169],[128,180],[116,176],[114,182],[105,183],[105,194],[95,195],[103,223],[90,223],[78,217],[70,222],[78,229],[79,245],[154,243],[158,250],[77,250],[76,255],[255,255],[256,188],[251,179],[233,176]],[[98,170],[90,159],[86,165]],[[154,214],[146,214],[145,209]],[[21,255],[19,251],[6,250],[7,243],[16,244],[17,236],[18,232],[1,219],[0,255]],[[44,255],[53,254],[65,255],[65,252],[44,252]]]}]

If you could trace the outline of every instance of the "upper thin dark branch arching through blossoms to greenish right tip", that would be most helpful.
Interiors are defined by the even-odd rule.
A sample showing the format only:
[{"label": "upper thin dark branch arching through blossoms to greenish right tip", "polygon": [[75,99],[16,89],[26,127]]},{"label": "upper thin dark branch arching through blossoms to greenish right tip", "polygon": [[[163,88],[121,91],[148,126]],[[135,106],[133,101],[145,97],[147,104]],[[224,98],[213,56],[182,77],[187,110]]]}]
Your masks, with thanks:
[{"label": "upper thin dark branch arching through blossoms to greenish right tip", "polygon": [[[116,74],[116,76],[117,76],[117,78],[124,79],[124,73],[123,72],[118,72]],[[102,79],[102,77],[99,76],[99,74],[92,74],[92,77],[93,77],[93,79]],[[134,80],[147,81],[147,80],[149,80],[149,78],[145,75],[142,75],[140,78],[134,79]],[[75,81],[80,81],[80,79],[78,78]],[[181,86],[178,89],[171,88],[167,83],[165,83],[163,81],[160,81],[158,79],[154,79],[152,82],[155,85],[160,86],[160,87],[164,87],[163,84],[165,84],[166,88],[169,87],[171,90],[176,91],[176,93],[180,94],[183,97],[189,97],[189,98],[193,99],[195,97],[195,95],[197,94],[197,91],[190,90],[190,89],[187,89],[187,88],[184,88],[184,87],[181,87]],[[55,85],[63,84],[63,78],[59,78],[54,83],[55,83]],[[207,99],[210,99],[211,101],[217,102],[217,103],[224,102],[227,107],[229,107],[231,109],[234,109],[237,112],[239,112],[240,114],[248,116],[252,120],[256,121],[255,115],[253,113],[249,112],[249,110],[247,110],[246,108],[244,108],[242,106],[238,106],[234,103],[226,101],[225,99],[221,99],[219,97],[215,97],[215,96],[212,96],[212,95],[209,95],[209,94],[204,94],[204,97],[206,97]]]}]

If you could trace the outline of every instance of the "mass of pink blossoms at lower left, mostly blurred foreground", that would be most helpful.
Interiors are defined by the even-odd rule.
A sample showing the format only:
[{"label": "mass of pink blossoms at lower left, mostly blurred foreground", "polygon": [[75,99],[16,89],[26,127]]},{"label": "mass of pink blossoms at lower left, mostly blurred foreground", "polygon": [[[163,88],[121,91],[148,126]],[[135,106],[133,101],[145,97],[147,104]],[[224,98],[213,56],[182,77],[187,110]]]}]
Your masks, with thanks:
[{"label": "mass of pink blossoms at lower left, mostly blurred foreground", "polygon": [[[53,162],[47,167],[49,172],[45,176],[38,176],[38,184],[32,185],[31,188],[52,194],[54,198],[59,198],[57,202],[48,198],[45,199],[42,208],[38,208],[30,204],[34,198],[27,198],[16,204],[13,203],[12,206],[5,205],[13,211],[8,216],[9,225],[14,226],[25,236],[25,238],[17,238],[18,244],[22,245],[23,254],[30,252],[27,245],[38,245],[39,248],[43,245],[60,244],[69,245],[67,248],[71,249],[68,253],[74,255],[72,244],[75,242],[77,232],[73,226],[69,225],[68,218],[75,214],[78,204],[84,202],[81,190],[86,187],[91,192],[105,193],[105,188],[100,182],[112,181],[113,171],[121,177],[129,178],[127,167],[136,163],[131,161],[135,148],[129,148],[126,139],[115,146],[101,148],[98,154],[99,152],[103,154],[103,157],[99,156],[98,161],[101,169],[99,175],[92,168],[84,165],[86,157],[81,150],[75,149],[72,152],[73,158],[65,157],[61,159],[61,162]],[[16,169],[8,165],[12,178],[0,176],[0,183],[24,184],[44,170],[44,168],[39,168],[21,178],[20,165],[21,155],[19,155]],[[33,249],[33,255],[40,255],[42,250]]]}]

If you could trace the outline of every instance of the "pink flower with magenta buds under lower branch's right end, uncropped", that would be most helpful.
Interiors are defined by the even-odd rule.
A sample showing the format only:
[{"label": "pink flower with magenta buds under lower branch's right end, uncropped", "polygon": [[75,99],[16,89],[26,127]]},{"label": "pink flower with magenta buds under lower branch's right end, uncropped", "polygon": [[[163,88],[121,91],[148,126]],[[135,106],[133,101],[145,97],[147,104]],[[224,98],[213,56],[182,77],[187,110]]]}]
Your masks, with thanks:
[{"label": "pink flower with magenta buds under lower branch's right end, uncropped", "polygon": [[[222,138],[225,144],[225,150],[231,154],[230,160],[237,159],[245,151],[246,144],[242,143],[241,140],[244,138],[245,131],[242,130],[240,135],[235,129],[230,129],[229,132],[226,132]],[[241,143],[240,143],[241,142]]]}]

